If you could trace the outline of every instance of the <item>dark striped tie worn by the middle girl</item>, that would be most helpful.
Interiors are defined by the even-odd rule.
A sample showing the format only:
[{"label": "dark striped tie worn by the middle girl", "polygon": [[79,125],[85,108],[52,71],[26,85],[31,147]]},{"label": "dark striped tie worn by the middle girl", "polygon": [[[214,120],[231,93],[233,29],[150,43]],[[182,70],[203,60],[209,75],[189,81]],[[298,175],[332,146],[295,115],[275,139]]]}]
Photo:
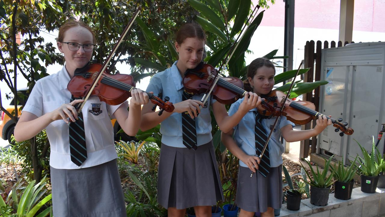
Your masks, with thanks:
[{"label": "dark striped tie worn by the middle girl", "polygon": [[[192,95],[183,91],[182,93],[182,101],[191,99]],[[195,119],[192,119],[190,115],[185,112],[182,112],[182,139],[183,144],[188,149],[196,150],[198,148],[196,144],[196,127],[195,127]]]}]

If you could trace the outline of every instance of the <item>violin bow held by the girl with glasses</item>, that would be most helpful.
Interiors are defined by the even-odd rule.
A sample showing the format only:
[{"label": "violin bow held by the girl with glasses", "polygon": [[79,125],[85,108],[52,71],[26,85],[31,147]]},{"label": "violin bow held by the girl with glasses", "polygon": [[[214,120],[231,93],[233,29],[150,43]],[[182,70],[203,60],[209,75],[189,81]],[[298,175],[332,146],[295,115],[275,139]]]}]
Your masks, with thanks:
[{"label": "violin bow held by the girl with glasses", "polygon": [[[96,78],[94,78],[94,81],[92,83],[92,86],[87,90],[87,93],[86,93],[86,96],[83,97],[82,99],[84,100],[84,102],[82,103],[79,103],[76,105],[76,110],[77,110],[77,113],[80,114],[80,112],[82,112],[82,108],[84,106],[84,103],[88,100],[88,98],[90,97],[91,93],[92,93],[92,90],[94,90],[97,82],[100,80],[100,78],[102,77],[102,72],[104,72],[104,70],[107,68],[107,65],[108,63],[111,61],[113,55],[115,54],[115,52],[117,51],[118,47],[120,46],[121,42],[123,41],[123,38],[126,36],[127,32],[130,30],[132,24],[134,23],[136,17],[138,16],[139,12],[141,10],[141,7],[138,7],[133,15],[133,17],[131,18],[130,22],[127,24],[126,28],[124,29],[123,31],[123,34],[121,35],[121,37],[118,39],[118,41],[116,42],[114,48],[112,49],[112,52],[109,54],[108,58],[106,59],[104,65],[103,65],[103,68],[102,70],[99,71],[99,74],[97,75]],[[96,75],[95,75],[96,76]],[[69,122],[70,124],[71,122]]]}]

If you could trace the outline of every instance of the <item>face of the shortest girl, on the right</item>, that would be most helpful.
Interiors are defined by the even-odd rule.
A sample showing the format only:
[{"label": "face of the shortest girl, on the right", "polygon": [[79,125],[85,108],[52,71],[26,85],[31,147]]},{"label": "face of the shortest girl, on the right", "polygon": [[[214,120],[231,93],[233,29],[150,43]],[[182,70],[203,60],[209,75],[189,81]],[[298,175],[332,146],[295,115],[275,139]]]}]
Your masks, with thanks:
[{"label": "face of the shortest girl, on the right", "polygon": [[254,77],[248,77],[251,86],[254,86],[254,93],[268,94],[274,86],[274,68],[262,66],[257,69]]}]

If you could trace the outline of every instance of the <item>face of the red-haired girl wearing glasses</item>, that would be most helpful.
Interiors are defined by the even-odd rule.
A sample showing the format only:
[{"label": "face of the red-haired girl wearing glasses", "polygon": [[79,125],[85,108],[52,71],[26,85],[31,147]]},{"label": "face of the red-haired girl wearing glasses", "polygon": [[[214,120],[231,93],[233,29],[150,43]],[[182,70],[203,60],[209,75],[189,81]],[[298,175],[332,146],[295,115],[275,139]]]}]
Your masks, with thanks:
[{"label": "face of the red-haired girl wearing glasses", "polygon": [[[67,29],[62,42],[76,42],[78,44],[93,44],[92,33],[82,26],[75,26]],[[91,59],[92,52],[85,52],[83,46],[77,51],[71,51],[68,44],[57,42],[59,51],[64,54],[65,68],[72,75],[77,68],[84,67]]]}]

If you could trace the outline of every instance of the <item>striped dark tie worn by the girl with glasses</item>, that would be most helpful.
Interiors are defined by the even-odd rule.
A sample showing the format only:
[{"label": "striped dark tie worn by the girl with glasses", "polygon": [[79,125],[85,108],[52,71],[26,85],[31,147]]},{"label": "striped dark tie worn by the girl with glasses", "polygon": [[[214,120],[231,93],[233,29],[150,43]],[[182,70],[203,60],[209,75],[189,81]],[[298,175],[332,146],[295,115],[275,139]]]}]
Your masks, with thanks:
[{"label": "striped dark tie worn by the girl with glasses", "polygon": [[[74,100],[75,98],[71,96],[70,102]],[[77,166],[80,166],[85,161],[85,159],[87,159],[87,149],[85,146],[85,133],[82,112],[80,112],[77,117],[78,119],[69,125],[70,154],[71,161],[74,162]]]}]

